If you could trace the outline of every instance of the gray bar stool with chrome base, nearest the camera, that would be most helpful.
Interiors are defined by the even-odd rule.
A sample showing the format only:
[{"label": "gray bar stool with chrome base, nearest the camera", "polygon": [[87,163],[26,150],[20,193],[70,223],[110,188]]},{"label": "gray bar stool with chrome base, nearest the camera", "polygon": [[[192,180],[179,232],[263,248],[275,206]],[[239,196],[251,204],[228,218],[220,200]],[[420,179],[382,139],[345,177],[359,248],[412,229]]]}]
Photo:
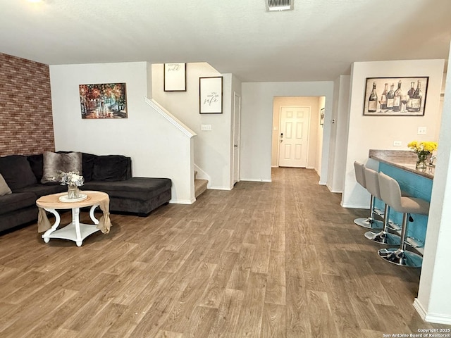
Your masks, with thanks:
[{"label": "gray bar stool with chrome base, nearest the camera", "polygon": [[409,227],[409,219],[411,213],[417,215],[429,214],[429,203],[424,199],[415,197],[405,197],[401,195],[400,184],[392,177],[379,173],[379,187],[381,196],[390,208],[393,208],[402,215],[401,244],[398,249],[380,249],[378,255],[390,263],[407,266],[410,268],[419,268],[423,262],[423,258],[412,251],[406,250],[407,230]]}]

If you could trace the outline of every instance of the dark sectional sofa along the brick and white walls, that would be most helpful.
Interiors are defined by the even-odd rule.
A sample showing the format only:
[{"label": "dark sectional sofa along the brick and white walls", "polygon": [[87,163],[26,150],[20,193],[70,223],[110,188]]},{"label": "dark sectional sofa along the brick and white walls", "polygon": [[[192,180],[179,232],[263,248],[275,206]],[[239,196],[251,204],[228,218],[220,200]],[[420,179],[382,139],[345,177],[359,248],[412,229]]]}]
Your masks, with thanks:
[{"label": "dark sectional sofa along the brick and white walls", "polygon": [[[58,182],[40,183],[42,154],[0,157],[0,174],[12,192],[0,196],[0,232],[37,220],[36,200],[40,196],[67,191]],[[80,190],[109,194],[111,212],[146,216],[171,200],[171,180],[132,177],[130,157],[82,153],[82,175],[85,184]]]}]

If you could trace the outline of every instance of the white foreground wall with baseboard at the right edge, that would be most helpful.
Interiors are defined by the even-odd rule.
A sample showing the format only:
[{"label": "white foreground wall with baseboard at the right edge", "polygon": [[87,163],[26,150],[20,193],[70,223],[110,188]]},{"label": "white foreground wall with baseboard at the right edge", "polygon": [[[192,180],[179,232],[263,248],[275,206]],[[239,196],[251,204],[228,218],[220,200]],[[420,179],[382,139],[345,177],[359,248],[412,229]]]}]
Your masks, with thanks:
[{"label": "white foreground wall with baseboard at the right edge", "polygon": [[[451,59],[451,48],[450,48]],[[421,317],[451,324],[451,74],[448,72],[438,139],[437,165],[424,245],[418,297],[414,301]]]}]

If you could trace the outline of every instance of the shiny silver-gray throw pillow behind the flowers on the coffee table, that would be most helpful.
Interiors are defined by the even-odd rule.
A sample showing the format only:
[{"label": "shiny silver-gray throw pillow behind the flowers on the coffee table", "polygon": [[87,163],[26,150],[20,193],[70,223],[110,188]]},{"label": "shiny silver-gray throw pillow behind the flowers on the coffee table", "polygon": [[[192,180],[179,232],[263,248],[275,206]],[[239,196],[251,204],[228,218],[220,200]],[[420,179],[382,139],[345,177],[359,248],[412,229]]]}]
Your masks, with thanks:
[{"label": "shiny silver-gray throw pillow behind the flowers on the coffee table", "polygon": [[51,151],[44,153],[43,175],[41,183],[59,182],[59,171],[73,171],[82,175],[82,153],[56,154]]}]

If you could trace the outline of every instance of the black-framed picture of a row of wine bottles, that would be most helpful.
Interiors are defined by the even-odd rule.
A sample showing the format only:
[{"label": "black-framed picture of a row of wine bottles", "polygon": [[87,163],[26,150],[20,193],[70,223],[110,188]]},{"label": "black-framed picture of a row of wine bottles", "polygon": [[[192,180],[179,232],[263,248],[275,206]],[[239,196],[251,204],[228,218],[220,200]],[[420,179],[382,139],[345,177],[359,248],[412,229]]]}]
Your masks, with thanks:
[{"label": "black-framed picture of a row of wine bottles", "polygon": [[429,77],[367,77],[364,115],[424,115]]}]

